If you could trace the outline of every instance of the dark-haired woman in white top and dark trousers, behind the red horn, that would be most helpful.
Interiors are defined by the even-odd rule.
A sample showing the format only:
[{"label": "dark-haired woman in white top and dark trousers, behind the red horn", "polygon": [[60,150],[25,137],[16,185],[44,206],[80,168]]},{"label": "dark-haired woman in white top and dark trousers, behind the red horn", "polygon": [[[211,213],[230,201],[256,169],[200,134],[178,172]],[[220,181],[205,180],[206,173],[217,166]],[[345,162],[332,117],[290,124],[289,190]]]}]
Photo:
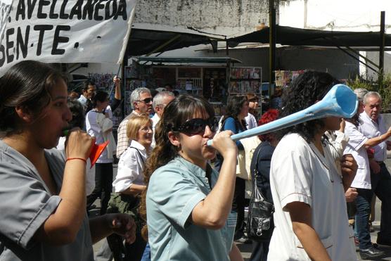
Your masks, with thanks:
[{"label": "dark-haired woman in white top and dark trousers, behind the red horn", "polygon": [[113,154],[116,145],[113,122],[108,113],[103,114],[109,104],[108,94],[105,91],[97,91],[92,98],[92,104],[94,109],[86,115],[86,132],[95,137],[96,144],[103,144],[105,141],[109,141],[109,144],[96,160],[95,189],[87,197],[87,209],[91,208],[96,198],[101,198],[101,215],[103,215],[108,208],[108,200],[113,189]]}]

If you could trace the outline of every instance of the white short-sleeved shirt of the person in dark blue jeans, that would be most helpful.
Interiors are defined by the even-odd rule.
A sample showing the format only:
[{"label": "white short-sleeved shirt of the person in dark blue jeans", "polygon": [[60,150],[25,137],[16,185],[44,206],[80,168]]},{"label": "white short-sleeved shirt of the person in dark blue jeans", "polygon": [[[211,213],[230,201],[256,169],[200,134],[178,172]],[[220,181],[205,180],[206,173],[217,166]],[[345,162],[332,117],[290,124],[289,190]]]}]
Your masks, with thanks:
[{"label": "white short-sleeved shirt of the person in dark blue jeans", "polygon": [[368,154],[364,146],[368,138],[350,122],[346,122],[345,134],[349,136],[349,141],[343,153],[352,154],[358,165],[356,176],[350,186],[359,189],[371,189],[371,172],[369,170]]}]

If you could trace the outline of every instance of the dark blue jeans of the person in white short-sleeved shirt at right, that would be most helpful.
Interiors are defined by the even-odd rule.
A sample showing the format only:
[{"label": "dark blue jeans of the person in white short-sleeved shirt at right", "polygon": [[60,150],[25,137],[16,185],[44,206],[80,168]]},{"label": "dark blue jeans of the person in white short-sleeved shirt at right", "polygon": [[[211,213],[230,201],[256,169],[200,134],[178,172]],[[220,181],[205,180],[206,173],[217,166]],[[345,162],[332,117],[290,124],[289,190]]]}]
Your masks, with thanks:
[{"label": "dark blue jeans of the person in white short-sleeved shirt at right", "polygon": [[369,214],[371,214],[373,192],[371,189],[357,189],[357,193],[359,195],[355,200],[357,212],[354,221],[354,231],[357,233],[360,249],[366,249],[372,246],[368,220]]}]

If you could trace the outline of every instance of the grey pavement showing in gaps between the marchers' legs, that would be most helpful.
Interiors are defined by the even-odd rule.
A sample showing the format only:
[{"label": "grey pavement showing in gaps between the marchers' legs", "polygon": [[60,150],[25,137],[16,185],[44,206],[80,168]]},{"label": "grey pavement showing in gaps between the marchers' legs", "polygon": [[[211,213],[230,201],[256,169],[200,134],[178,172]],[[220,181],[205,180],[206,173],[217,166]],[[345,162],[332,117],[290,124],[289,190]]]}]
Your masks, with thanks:
[{"label": "grey pavement showing in gaps between the marchers' legs", "polygon": [[[390,156],[391,155],[389,155],[389,157]],[[388,158],[387,160],[385,160],[385,165],[387,165],[387,168],[388,168],[389,172],[391,173],[391,158]],[[115,178],[116,174],[117,174],[117,165],[114,165],[114,178]],[[96,200],[95,205],[96,205],[96,208],[92,209],[89,212],[90,216],[98,215],[98,213],[99,213],[99,211],[98,211],[99,207],[100,207],[99,200]],[[372,223],[373,229],[375,229],[375,231],[373,231],[371,233],[371,239],[372,239],[373,243],[376,243],[376,237],[377,237],[378,231],[380,230],[380,211],[381,211],[380,208],[381,208],[381,201],[377,198],[375,221]],[[98,249],[101,248],[102,243],[103,243],[103,241],[99,241],[98,243],[94,244],[94,254],[96,254]],[[241,250],[243,259],[245,261],[250,260],[250,256],[251,256],[251,252],[252,252],[252,244],[251,243],[248,243],[248,244],[237,243],[237,246]],[[383,250],[385,252],[385,255],[383,257],[379,257],[379,258],[373,259],[373,260],[391,261],[391,247],[379,245],[378,248],[380,250]],[[358,252],[357,252],[357,260],[361,260]]]}]

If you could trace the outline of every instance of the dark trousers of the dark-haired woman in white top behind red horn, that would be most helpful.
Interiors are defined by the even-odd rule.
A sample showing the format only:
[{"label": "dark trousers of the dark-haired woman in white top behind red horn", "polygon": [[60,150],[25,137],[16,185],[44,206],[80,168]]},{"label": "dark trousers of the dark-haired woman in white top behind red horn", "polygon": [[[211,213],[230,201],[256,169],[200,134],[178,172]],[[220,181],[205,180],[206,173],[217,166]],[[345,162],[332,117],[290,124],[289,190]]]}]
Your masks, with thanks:
[{"label": "dark trousers of the dark-haired woman in white top behind red horn", "polygon": [[95,167],[95,189],[87,196],[87,209],[101,198],[101,215],[105,214],[108,208],[108,200],[113,190],[113,163],[96,163]]}]

